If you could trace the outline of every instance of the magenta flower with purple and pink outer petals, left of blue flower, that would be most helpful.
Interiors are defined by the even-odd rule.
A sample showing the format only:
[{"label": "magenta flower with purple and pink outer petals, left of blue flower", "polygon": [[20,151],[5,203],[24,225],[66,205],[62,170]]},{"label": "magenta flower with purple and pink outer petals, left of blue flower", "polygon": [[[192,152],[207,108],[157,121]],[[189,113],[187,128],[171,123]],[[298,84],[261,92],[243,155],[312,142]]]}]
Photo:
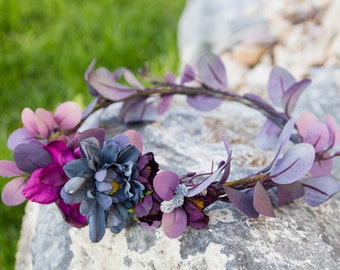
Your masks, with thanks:
[{"label": "magenta flower with purple and pink outer petals, left of blue flower", "polygon": [[66,206],[60,197],[69,179],[63,166],[77,157],[63,141],[18,145],[14,149],[15,162],[0,161],[0,175],[18,176],[4,187],[2,201],[7,205],[18,205],[26,199],[40,204],[56,202],[67,222],[76,227],[86,225],[85,217],[79,214],[79,205]]}]

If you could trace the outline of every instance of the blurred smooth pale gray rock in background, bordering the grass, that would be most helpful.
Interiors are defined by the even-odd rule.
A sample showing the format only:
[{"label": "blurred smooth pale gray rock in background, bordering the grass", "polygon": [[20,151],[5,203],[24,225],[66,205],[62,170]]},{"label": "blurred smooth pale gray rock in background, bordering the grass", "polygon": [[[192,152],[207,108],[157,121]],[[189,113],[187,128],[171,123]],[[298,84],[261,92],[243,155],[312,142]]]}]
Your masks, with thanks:
[{"label": "blurred smooth pale gray rock in background, bordering the grass", "polygon": [[261,0],[188,0],[178,24],[181,62],[191,63],[205,51],[221,54],[239,43],[272,44],[261,11]]}]

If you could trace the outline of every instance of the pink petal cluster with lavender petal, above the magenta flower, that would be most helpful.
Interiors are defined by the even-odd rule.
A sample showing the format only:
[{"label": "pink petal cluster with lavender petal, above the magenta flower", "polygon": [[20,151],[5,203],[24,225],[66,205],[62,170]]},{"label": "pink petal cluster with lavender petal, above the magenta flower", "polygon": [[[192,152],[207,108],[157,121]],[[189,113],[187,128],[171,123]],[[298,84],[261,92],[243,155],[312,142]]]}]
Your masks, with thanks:
[{"label": "pink petal cluster with lavender petal, above the magenta flower", "polygon": [[25,108],[21,113],[23,128],[15,130],[8,138],[7,146],[14,149],[21,143],[51,139],[64,140],[62,131],[74,128],[81,120],[81,108],[72,101],[61,103],[53,113],[38,108],[33,112]]}]

